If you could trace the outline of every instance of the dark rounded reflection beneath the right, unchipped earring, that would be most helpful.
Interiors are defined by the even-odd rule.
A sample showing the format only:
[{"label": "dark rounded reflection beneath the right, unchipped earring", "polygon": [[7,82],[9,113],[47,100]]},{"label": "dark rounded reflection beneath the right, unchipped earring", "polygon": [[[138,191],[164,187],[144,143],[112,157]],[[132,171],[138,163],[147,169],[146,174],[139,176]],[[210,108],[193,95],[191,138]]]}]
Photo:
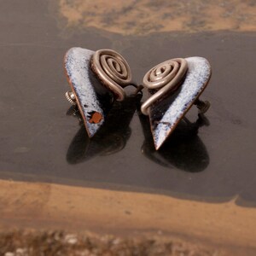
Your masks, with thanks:
[{"label": "dark rounded reflection beneath the right, unchipped earring", "polygon": [[147,116],[139,112],[139,118],[145,137],[142,153],[148,159],[160,166],[177,168],[185,172],[202,172],[207,168],[210,162],[207,148],[197,135],[199,127],[209,125],[203,114],[198,115],[195,123],[184,118],[159,151],[154,148]]}]

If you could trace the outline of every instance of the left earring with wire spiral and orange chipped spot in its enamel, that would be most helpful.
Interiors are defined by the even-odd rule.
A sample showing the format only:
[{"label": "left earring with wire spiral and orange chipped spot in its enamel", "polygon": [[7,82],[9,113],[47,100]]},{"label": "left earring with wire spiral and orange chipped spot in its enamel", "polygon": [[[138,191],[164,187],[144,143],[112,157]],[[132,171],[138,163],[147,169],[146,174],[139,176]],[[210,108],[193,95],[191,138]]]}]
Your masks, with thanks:
[{"label": "left earring with wire spiral and orange chipped spot in its enamel", "polygon": [[103,125],[113,101],[125,99],[124,88],[131,82],[131,69],[119,53],[111,49],[72,48],[64,57],[67,80],[72,91],[68,102],[76,106],[89,137]]}]

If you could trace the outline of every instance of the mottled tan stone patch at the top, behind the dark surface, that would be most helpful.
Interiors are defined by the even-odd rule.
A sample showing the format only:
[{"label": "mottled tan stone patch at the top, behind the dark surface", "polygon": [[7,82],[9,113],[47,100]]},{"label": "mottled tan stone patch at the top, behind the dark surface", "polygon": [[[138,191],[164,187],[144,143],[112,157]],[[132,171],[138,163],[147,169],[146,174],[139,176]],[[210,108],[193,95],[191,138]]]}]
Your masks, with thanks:
[{"label": "mottled tan stone patch at the top, behind the dark surface", "polygon": [[59,0],[59,12],[69,28],[92,26],[125,35],[256,31],[253,0]]}]

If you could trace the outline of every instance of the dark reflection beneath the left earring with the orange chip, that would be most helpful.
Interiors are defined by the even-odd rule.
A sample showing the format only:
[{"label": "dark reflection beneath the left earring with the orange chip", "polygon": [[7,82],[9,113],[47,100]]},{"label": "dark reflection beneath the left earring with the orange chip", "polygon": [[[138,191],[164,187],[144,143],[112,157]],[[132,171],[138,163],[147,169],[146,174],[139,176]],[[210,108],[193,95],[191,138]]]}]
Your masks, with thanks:
[{"label": "dark reflection beneath the left earring with the orange chip", "polygon": [[105,125],[92,138],[88,137],[84,129],[83,119],[79,116],[79,111],[70,108],[67,114],[78,117],[82,126],[73,137],[67,150],[67,162],[78,164],[90,160],[96,155],[115,154],[125,148],[131,137],[129,125],[137,109],[137,102],[140,102],[141,97],[138,94],[137,96],[126,97],[123,102],[114,102]]}]

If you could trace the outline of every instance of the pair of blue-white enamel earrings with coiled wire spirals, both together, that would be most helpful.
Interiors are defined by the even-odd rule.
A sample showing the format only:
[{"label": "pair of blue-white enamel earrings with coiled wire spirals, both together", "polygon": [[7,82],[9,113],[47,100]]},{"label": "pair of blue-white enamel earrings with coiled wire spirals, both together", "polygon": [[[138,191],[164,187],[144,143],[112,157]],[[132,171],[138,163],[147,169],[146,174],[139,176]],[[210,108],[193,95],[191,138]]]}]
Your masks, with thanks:
[{"label": "pair of blue-white enamel earrings with coiled wire spirals, both together", "polygon": [[[112,49],[72,48],[64,58],[67,80],[72,91],[67,91],[69,102],[77,106],[89,137],[104,124],[113,101],[125,99],[124,88],[144,87],[148,100],[141,111],[148,115],[156,150],[166,141],[195,104],[200,113],[206,113],[209,102],[199,96],[211,77],[211,66],[202,57],[176,58],[151,68],[143,78],[143,85],[132,82],[131,69],[124,57]],[[118,120],[117,120],[118,121]]]}]

